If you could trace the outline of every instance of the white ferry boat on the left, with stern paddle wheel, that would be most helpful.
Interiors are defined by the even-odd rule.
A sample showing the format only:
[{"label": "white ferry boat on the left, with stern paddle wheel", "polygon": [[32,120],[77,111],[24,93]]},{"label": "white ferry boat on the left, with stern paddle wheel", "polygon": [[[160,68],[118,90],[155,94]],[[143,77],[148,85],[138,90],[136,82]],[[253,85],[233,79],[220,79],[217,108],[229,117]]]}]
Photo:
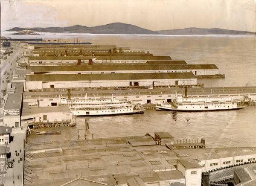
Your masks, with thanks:
[{"label": "white ferry boat on the left, with stern paddle wheel", "polygon": [[133,103],[127,99],[68,99],[60,97],[58,105],[68,105],[76,116],[109,116],[144,113],[140,103]]}]

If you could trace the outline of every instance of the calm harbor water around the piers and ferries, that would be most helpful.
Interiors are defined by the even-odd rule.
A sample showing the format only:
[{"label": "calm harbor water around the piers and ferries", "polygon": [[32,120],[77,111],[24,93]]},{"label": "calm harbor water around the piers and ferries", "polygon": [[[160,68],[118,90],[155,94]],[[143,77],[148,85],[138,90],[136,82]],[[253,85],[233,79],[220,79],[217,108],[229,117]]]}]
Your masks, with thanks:
[{"label": "calm harbor water around the piers and ferries", "polygon": [[[8,35],[6,35],[8,36]],[[31,37],[31,36],[29,36]],[[35,36],[33,36],[35,37]],[[253,36],[145,36],[43,34],[43,39],[88,41],[170,55],[188,64],[216,64],[224,79],[199,79],[206,87],[256,86],[256,37]],[[30,135],[28,142],[77,139],[85,117],[61,135]],[[256,146],[256,106],[215,112],[168,112],[146,110],[144,114],[87,117],[94,137],[120,137],[168,131],[175,139],[206,139],[207,147]],[[79,132],[83,137],[84,132]]]}]

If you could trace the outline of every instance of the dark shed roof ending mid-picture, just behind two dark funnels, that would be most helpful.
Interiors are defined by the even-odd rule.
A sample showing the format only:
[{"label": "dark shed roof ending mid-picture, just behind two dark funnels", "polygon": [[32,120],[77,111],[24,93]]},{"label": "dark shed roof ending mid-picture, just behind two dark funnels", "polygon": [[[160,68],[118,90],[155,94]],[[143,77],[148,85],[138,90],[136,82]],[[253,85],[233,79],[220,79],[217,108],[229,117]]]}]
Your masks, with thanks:
[{"label": "dark shed roof ending mid-picture, just behind two dark funnels", "polygon": [[[60,57],[55,57],[55,56],[29,56],[29,61],[54,61],[54,60],[89,60],[91,58],[96,58],[96,60],[110,60],[110,56],[60,56]],[[172,59],[170,56],[151,56],[151,55],[113,55],[111,57],[111,60],[160,60],[160,59],[166,59],[170,60]]]}]

